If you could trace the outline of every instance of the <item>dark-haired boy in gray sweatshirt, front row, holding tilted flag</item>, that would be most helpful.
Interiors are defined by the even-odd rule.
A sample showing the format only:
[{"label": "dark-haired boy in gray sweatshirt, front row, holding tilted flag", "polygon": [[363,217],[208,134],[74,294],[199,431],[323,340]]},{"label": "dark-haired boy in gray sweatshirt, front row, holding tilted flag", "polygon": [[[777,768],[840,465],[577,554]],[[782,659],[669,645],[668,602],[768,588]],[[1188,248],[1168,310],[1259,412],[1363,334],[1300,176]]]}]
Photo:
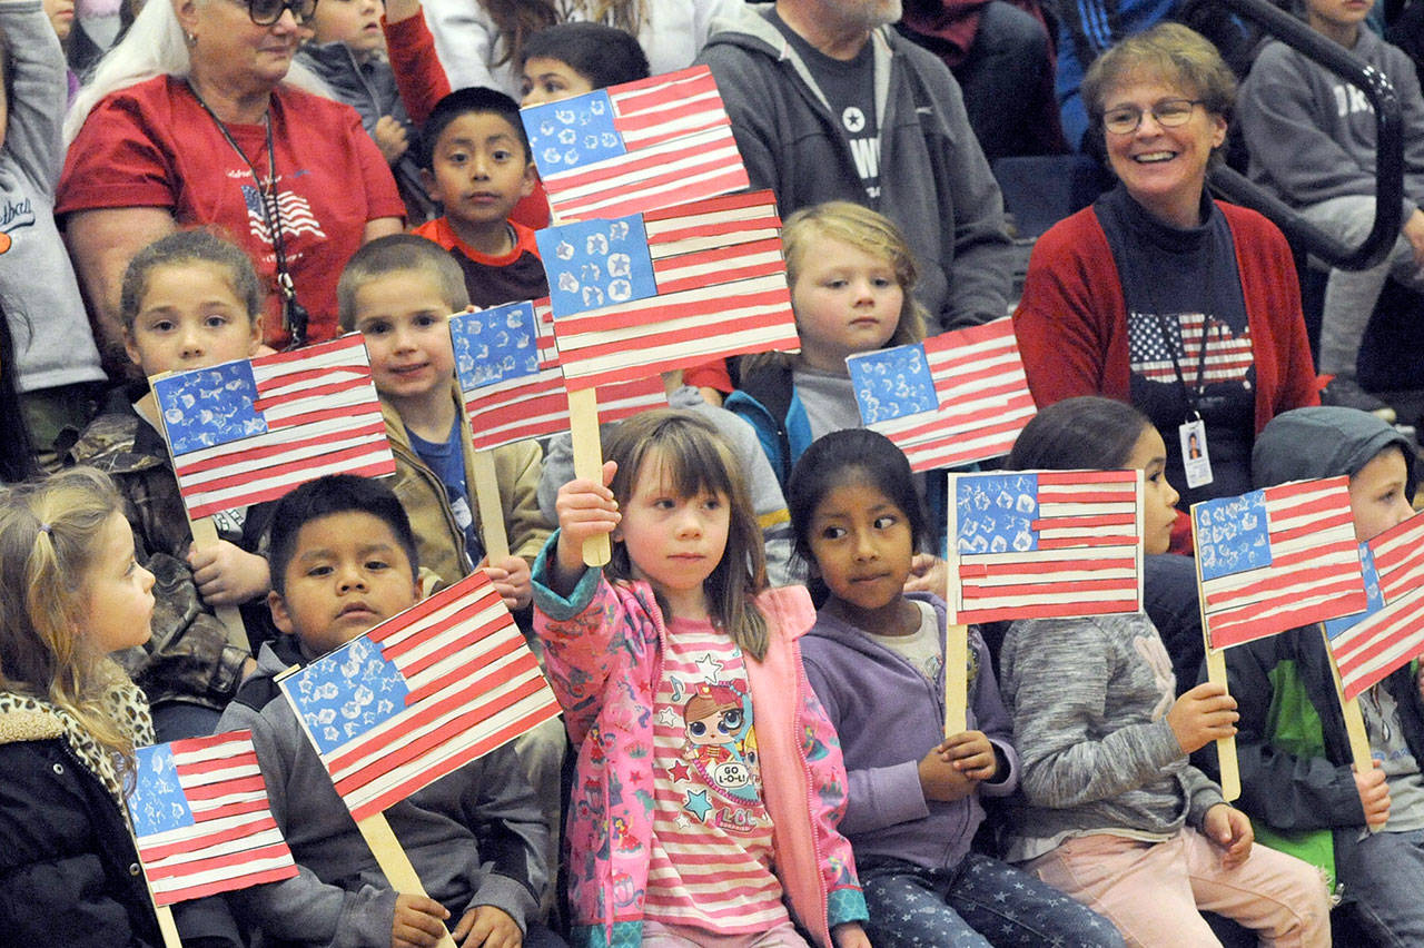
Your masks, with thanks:
[{"label": "dark-haired boy in gray sweatshirt, front row, holding tilted flag", "polygon": [[278,501],[268,605],[283,638],[263,646],[219,730],[252,732],[272,816],[300,871],[236,892],[234,904],[276,944],[436,945],[446,920],[457,920],[461,945],[560,945],[533,922],[547,828],[510,747],[384,811],[429,897],[396,892],[275,682],[414,605],[413,555],[410,522],[376,481],[322,477]]}]

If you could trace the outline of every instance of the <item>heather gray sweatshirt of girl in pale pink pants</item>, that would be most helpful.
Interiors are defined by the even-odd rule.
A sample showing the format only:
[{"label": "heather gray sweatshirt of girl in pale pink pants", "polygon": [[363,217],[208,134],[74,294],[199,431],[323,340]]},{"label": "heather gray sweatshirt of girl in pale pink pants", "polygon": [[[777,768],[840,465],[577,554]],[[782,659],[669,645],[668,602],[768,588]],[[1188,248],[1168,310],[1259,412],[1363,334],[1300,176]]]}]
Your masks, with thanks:
[{"label": "heather gray sweatshirt of girl in pale pink pants", "polygon": [[1223,803],[1166,723],[1176,678],[1145,613],[1014,622],[1000,670],[1024,796],[1010,860],[1088,833],[1165,840]]}]

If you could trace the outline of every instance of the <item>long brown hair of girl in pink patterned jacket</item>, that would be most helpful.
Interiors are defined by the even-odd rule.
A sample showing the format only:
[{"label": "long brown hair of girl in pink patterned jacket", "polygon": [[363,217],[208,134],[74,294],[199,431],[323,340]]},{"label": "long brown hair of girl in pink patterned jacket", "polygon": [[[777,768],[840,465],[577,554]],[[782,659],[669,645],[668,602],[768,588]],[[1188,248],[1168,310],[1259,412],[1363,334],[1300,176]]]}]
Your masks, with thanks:
[{"label": "long brown hair of girl in pink patterned jacket", "polygon": [[[731,514],[726,549],[706,579],[708,611],[743,652],[756,660],[766,658],[766,616],[756,606],[756,594],[766,589],[765,544],[736,458],[716,428],[688,411],[644,411],[614,430],[604,443],[604,454],[618,461],[609,488],[619,507],[628,504],[634,485],[654,471],[682,497],[706,491],[726,497]],[[611,579],[634,578],[622,544],[614,547],[607,574]],[[666,604],[658,605],[666,616]]]}]

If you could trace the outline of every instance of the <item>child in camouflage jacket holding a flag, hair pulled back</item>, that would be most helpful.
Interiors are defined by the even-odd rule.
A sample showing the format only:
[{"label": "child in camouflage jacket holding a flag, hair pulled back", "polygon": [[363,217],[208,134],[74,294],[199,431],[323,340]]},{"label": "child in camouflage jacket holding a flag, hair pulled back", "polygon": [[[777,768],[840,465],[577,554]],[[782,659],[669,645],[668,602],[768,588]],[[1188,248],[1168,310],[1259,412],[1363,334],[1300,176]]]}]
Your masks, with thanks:
[{"label": "child in camouflage jacket holding a flag, hair pulled back", "polygon": [[[262,288],[239,248],[205,229],[148,245],[124,273],[124,349],[144,376],[208,369],[255,356]],[[148,695],[161,740],[212,733],[251,655],[229,643],[218,606],[242,606],[249,635],[266,629],[271,589],[256,508],[214,515],[218,542],[197,548],[164,444],[158,407],[115,391],[70,450],[114,478],[134,528],[138,561],[155,575],[154,635],[120,662]]]}]

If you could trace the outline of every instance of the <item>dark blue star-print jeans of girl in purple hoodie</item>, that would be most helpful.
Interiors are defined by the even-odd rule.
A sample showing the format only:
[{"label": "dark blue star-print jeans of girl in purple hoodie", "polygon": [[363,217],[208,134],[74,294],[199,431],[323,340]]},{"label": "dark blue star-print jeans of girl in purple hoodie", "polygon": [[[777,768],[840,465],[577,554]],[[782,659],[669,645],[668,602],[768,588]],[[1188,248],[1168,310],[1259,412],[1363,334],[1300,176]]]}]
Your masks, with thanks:
[{"label": "dark blue star-print jeans of girl in purple hoodie", "polygon": [[970,853],[953,870],[891,858],[859,861],[876,948],[1074,945],[1121,948],[1102,915],[1020,870]]}]

